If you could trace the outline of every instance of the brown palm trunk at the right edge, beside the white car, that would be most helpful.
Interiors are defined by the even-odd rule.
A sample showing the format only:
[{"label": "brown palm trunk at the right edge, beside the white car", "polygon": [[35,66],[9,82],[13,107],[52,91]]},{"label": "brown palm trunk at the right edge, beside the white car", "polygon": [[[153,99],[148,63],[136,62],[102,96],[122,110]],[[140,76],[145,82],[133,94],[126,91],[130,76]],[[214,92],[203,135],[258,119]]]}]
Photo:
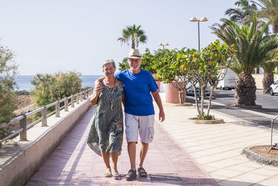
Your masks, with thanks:
[{"label": "brown palm trunk at the right edge, beside the white car", "polygon": [[263,63],[261,63],[261,67],[263,68],[263,92],[269,93],[270,85],[274,83],[274,78],[272,75],[273,70],[278,65],[278,53],[272,52],[268,56],[265,57]]}]

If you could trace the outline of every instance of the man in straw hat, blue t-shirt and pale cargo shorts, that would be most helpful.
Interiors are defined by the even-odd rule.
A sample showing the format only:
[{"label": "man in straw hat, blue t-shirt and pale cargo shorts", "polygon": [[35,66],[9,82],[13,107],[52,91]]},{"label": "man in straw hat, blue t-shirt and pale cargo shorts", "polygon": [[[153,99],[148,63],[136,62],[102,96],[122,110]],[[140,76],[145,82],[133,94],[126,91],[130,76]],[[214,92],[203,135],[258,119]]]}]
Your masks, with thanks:
[{"label": "man in straw hat, blue t-shirt and pale cargo shorts", "polygon": [[[143,162],[149,149],[149,143],[154,139],[154,105],[152,95],[159,108],[158,120],[163,122],[165,114],[154,77],[152,77],[149,71],[140,68],[142,61],[139,50],[131,49],[127,58],[130,68],[118,72],[115,74],[115,77],[124,85],[126,98],[124,107],[126,141],[131,164],[131,169],[125,177],[126,180],[133,180],[137,178],[136,144],[138,142],[138,133],[141,147],[137,170],[140,177],[147,177],[147,172],[143,168]],[[152,95],[150,92],[152,92]]]}]

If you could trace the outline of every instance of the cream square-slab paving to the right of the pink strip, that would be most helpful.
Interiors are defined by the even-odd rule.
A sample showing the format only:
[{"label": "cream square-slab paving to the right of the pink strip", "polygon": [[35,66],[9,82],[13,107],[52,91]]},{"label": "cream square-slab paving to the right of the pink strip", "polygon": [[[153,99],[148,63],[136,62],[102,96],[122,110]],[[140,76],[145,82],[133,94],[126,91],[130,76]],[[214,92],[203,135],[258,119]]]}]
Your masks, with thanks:
[{"label": "cream square-slab paving to the right of the pink strip", "polygon": [[[223,118],[224,124],[190,124],[187,119],[197,115],[195,107],[165,104],[164,109],[163,128],[219,185],[277,185],[277,167],[241,155],[247,146],[270,145],[270,129],[213,110],[211,114]],[[278,134],[273,137],[277,142]]]}]

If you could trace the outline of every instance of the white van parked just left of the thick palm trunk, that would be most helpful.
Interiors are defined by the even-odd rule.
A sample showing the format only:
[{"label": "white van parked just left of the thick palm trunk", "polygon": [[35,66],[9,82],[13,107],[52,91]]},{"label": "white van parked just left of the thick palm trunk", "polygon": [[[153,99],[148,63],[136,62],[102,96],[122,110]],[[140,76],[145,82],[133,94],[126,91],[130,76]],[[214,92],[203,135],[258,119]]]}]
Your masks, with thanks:
[{"label": "white van parked just left of the thick palm trunk", "polygon": [[[223,73],[226,73],[224,76]],[[224,89],[227,88],[228,90],[231,90],[232,88],[236,88],[236,81],[238,80],[238,75],[233,70],[230,70],[229,68],[223,68],[220,70],[220,78],[223,78],[218,82],[217,88]]]}]

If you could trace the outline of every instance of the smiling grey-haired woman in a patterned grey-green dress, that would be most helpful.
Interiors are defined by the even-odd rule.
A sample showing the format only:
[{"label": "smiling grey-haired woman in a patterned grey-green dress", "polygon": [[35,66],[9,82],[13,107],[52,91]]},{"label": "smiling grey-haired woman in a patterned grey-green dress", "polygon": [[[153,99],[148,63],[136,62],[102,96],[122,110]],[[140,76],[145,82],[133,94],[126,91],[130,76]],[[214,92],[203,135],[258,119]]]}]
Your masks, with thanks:
[{"label": "smiling grey-haired woman in a patterned grey-green dress", "polygon": [[[116,70],[113,59],[106,59],[102,71],[106,76],[101,86],[95,86],[90,102],[97,104],[92,126],[88,137],[88,146],[104,159],[106,166],[105,177],[120,178],[117,171],[117,158],[122,150],[124,87],[114,77]],[[110,155],[113,162],[111,171]]]}]

